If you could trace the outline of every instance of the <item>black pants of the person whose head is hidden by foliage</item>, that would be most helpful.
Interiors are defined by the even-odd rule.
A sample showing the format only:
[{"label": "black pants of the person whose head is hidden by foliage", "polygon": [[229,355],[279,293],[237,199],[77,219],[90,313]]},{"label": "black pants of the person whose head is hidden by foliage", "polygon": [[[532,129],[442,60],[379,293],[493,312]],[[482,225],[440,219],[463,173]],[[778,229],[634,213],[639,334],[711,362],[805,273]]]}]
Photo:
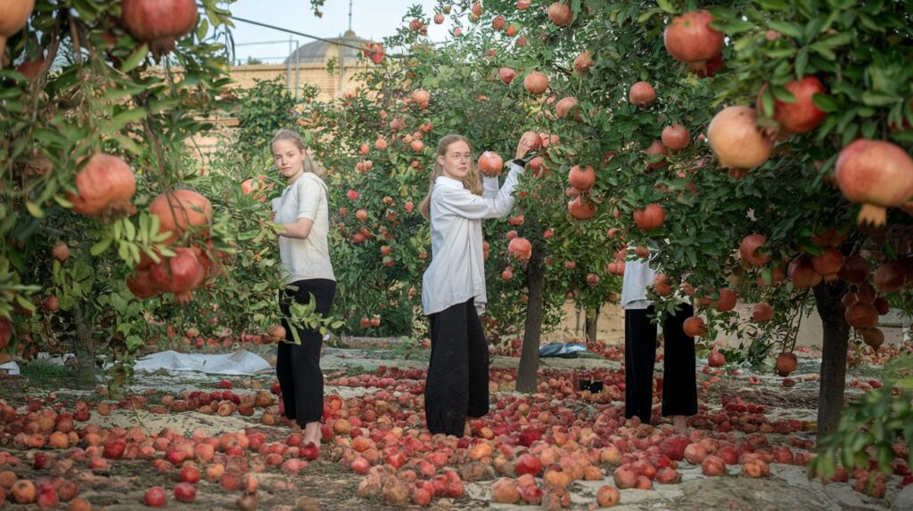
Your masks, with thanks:
[{"label": "black pants of the person whose head is hidden by foliage", "polygon": [[[647,309],[624,311],[624,416],[651,421],[653,409],[653,364],[656,362],[656,325]],[[686,303],[663,322],[663,415],[698,413],[698,379],[694,338],[685,335],[682,323],[694,315]]]}]

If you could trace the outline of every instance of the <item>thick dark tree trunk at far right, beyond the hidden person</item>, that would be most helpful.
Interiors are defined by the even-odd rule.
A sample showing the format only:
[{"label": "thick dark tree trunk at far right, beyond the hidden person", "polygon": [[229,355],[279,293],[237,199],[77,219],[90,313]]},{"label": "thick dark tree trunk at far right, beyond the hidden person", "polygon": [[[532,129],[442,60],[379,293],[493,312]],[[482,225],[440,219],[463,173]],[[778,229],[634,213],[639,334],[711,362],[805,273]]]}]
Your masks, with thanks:
[{"label": "thick dark tree trunk at far right, beyond the hidden person", "polygon": [[821,389],[818,393],[818,434],[837,429],[840,413],[844,409],[846,386],[846,350],[850,325],[844,318],[846,282],[824,283],[814,286],[814,301],[824,327],[821,353]]}]

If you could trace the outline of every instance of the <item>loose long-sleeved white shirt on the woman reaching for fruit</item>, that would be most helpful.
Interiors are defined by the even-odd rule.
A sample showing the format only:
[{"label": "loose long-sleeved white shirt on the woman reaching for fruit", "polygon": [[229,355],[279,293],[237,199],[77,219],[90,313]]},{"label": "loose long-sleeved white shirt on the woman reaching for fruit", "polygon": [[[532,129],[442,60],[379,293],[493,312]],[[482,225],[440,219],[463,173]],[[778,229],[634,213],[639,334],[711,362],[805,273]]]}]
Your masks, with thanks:
[{"label": "loose long-sleeved white shirt on the woman reaching for fruit", "polygon": [[513,208],[513,189],[519,165],[510,164],[504,185],[483,178],[482,195],[463,188],[457,179],[439,176],[431,189],[431,264],[422,278],[422,309],[426,316],[475,299],[485,313],[485,261],[482,257],[482,219],[506,216]]}]

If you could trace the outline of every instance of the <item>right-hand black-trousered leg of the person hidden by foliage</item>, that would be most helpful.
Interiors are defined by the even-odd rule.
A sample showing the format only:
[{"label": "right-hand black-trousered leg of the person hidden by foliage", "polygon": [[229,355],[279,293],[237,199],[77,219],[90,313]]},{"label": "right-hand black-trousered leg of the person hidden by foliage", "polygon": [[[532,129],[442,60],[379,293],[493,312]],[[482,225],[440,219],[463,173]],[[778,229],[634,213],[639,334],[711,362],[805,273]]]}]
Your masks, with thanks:
[{"label": "right-hand black-trousered leg of the person hidden by foliage", "polygon": [[680,303],[675,314],[668,314],[663,322],[663,415],[698,413],[694,337],[682,329],[693,315],[694,307]]}]

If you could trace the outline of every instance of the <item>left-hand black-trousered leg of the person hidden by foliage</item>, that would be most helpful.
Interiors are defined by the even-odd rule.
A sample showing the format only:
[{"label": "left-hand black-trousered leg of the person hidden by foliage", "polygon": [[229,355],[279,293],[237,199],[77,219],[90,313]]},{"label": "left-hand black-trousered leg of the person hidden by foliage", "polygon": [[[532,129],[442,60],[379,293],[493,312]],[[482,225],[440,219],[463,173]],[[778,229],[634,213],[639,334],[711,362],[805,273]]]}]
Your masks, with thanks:
[{"label": "left-hand black-trousered leg of the person hidden by foliage", "polygon": [[656,325],[650,322],[653,305],[624,310],[624,416],[649,423],[653,413],[653,364],[656,362]]}]

